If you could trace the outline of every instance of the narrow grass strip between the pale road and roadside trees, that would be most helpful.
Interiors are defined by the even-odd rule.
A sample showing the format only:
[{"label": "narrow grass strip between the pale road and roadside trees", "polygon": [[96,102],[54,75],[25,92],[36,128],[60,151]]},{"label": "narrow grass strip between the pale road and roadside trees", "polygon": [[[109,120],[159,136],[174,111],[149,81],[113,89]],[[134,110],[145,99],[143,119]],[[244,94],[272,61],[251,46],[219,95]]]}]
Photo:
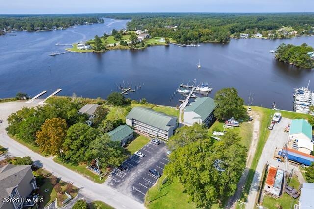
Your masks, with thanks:
[{"label": "narrow grass strip between the pale road and roadside trees", "polygon": [[[93,172],[91,172],[90,170],[86,169],[86,166],[87,166],[86,164],[73,165],[71,163],[62,162],[57,157],[54,157],[53,161],[60,164],[60,165],[63,165],[64,167],[66,167],[66,168],[68,168],[74,172],[79,173],[80,175],[85,176],[86,178],[88,178],[88,179],[90,179],[96,183],[104,183],[105,180],[107,179],[106,175],[102,179],[99,179],[98,175],[96,175]],[[104,169],[101,169],[101,170],[103,171],[103,173],[105,173]]]}]

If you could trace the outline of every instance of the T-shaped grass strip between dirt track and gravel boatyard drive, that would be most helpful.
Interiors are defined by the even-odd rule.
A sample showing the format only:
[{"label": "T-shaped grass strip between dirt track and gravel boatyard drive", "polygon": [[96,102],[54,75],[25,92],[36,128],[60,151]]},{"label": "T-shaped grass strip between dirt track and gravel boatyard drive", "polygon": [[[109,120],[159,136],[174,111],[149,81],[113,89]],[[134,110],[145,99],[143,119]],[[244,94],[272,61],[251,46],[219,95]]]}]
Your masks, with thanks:
[{"label": "T-shaped grass strip between dirt track and gravel boatyard drive", "polygon": [[[254,173],[256,166],[258,164],[258,161],[262,155],[262,150],[264,148],[264,145],[268,139],[270,131],[267,129],[267,127],[270,124],[271,116],[276,112],[276,110],[271,110],[263,107],[256,107],[252,106],[252,110],[256,111],[260,115],[260,135],[259,135],[259,141],[257,145],[257,149],[255,151],[255,155],[252,160],[252,164],[248,173],[248,177],[244,186],[244,189],[241,194],[241,200],[246,201],[247,195],[250,190],[251,183],[253,181]],[[280,111],[283,117],[295,119],[295,118],[308,118],[309,115],[302,114],[302,113],[296,113],[296,112],[289,112],[289,111]],[[237,206],[237,208],[240,208]]]}]

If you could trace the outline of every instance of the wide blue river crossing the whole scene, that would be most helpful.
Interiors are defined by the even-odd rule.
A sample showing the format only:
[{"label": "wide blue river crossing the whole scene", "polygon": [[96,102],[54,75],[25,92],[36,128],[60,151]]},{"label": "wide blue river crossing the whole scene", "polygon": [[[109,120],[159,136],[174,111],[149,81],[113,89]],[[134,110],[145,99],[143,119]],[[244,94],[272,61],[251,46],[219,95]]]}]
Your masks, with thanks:
[{"label": "wide blue river crossing the whole scene", "polygon": [[[83,97],[106,98],[117,91],[117,84],[141,84],[127,95],[146,98],[155,104],[179,104],[180,95],[172,98],[183,82],[208,82],[209,94],[224,87],[235,87],[247,103],[254,93],[253,105],[292,110],[293,88],[314,81],[310,69],[300,69],[277,62],[274,54],[281,43],[314,46],[314,37],[285,40],[232,39],[228,44],[201,44],[200,47],[175,45],[148,47],[145,50],[115,50],[105,53],[67,53],[64,46],[89,40],[95,35],[126,27],[128,20],[105,19],[104,24],[75,26],[65,30],[16,32],[0,36],[0,98],[14,97],[18,91],[34,96],[43,90],[63,90],[58,95],[76,93]],[[197,68],[201,59],[202,68]],[[45,95],[47,96],[47,95]],[[172,99],[171,99],[172,98]]]}]

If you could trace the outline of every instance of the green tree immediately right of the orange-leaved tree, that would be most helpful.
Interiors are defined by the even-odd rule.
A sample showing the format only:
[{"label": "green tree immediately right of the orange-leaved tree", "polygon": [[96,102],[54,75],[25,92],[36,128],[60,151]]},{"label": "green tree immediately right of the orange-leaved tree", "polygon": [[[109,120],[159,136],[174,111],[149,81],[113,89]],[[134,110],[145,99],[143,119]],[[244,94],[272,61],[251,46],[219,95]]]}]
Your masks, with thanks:
[{"label": "green tree immediately right of the orange-leaved tree", "polygon": [[97,129],[89,127],[84,123],[77,123],[72,125],[65,137],[62,145],[64,160],[72,163],[80,163],[85,159],[85,152],[89,144],[99,135]]}]

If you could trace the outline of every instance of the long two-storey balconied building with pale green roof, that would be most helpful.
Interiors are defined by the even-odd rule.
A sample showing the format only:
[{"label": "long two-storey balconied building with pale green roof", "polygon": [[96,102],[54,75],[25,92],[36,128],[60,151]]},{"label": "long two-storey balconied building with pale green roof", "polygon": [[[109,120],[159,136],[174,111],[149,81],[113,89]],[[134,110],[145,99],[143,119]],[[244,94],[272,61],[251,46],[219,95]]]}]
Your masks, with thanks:
[{"label": "long two-storey balconied building with pale green roof", "polygon": [[134,107],[127,115],[126,123],[139,134],[168,140],[177,128],[177,117],[150,108]]}]

